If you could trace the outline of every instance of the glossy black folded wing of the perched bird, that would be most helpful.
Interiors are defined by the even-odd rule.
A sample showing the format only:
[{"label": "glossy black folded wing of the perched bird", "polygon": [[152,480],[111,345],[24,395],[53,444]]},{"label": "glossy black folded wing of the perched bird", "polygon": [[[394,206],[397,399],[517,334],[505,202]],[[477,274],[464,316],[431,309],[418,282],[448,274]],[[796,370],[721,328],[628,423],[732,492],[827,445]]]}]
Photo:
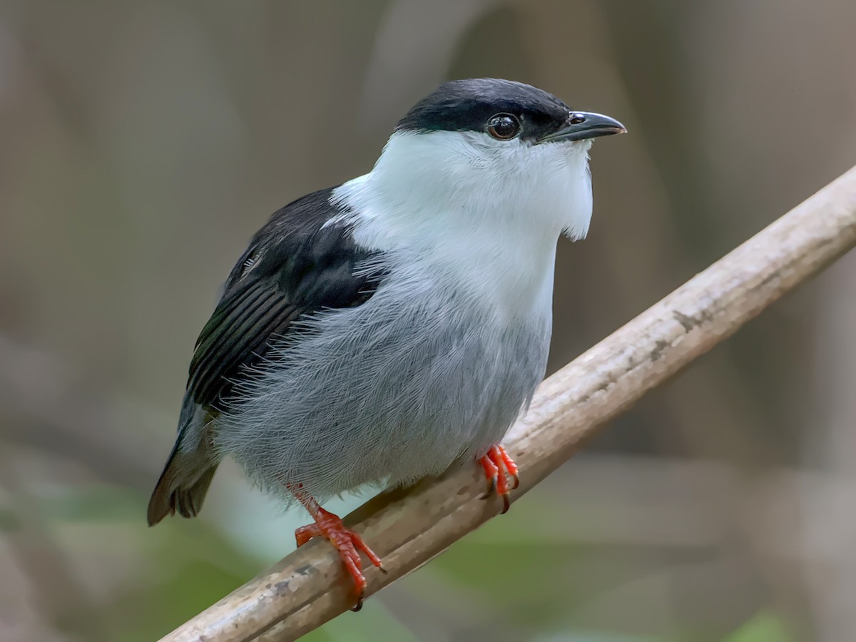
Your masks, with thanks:
[{"label": "glossy black folded wing of the perched bird", "polygon": [[196,342],[186,407],[193,402],[219,409],[295,319],[357,306],[373,294],[377,278],[354,276],[371,253],[355,245],[347,225],[324,227],[342,214],[330,204],[331,192],[324,189],[286,205],[253,237]]}]

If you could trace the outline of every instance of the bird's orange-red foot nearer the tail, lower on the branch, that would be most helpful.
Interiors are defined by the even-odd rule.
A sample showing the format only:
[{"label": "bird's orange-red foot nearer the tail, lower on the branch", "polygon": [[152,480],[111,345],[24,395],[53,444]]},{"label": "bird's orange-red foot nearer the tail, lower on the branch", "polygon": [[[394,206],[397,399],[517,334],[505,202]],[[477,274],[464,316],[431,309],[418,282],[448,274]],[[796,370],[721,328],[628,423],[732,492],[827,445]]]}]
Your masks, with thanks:
[{"label": "bird's orange-red foot nearer the tail, lower on the branch", "polygon": [[354,587],[357,591],[357,603],[353,610],[360,610],[363,607],[363,594],[366,592],[366,576],[363,575],[363,566],[359,551],[361,550],[366,553],[372,564],[380,568],[383,573],[386,573],[380,557],[375,555],[374,551],[366,545],[363,538],[360,538],[357,533],[349,528],[345,528],[338,516],[321,508],[318,502],[312,499],[312,497],[300,491],[295,492],[294,496],[306,507],[309,514],[312,515],[312,519],[315,520],[314,524],[301,526],[294,531],[294,538],[297,540],[297,545],[302,546],[310,539],[317,537],[324,537],[330,540],[330,544],[336,547],[339,556],[342,557],[342,562],[345,562],[348,574],[354,579]]}]

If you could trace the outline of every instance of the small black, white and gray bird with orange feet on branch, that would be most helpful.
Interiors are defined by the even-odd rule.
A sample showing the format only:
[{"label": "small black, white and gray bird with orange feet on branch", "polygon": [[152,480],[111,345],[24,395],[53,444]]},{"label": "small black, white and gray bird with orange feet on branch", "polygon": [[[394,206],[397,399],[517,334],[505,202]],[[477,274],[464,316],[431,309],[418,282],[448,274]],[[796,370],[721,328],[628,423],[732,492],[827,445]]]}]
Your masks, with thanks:
[{"label": "small black, white and gray bird with orange feet on branch", "polygon": [[[513,80],[452,80],[365,175],[276,211],[229,273],[193,352],[150,526],[199,513],[230,456],[300,503],[359,609],[360,535],[322,508],[478,461],[508,510],[502,448],[544,377],[556,243],[586,236],[594,138],[621,122]],[[487,495],[487,494],[486,494]]]}]

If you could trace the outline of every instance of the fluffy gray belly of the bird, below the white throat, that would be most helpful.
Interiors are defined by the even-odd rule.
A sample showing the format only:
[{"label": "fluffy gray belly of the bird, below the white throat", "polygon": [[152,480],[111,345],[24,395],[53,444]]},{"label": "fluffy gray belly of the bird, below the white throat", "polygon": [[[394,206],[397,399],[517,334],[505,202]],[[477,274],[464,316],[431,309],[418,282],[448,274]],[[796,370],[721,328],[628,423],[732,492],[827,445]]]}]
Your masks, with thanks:
[{"label": "fluffy gray belly of the bird, below the white throat", "polygon": [[382,289],[283,341],[217,420],[215,446],[263,487],[324,499],[484,455],[544,377],[550,310],[502,320]]}]

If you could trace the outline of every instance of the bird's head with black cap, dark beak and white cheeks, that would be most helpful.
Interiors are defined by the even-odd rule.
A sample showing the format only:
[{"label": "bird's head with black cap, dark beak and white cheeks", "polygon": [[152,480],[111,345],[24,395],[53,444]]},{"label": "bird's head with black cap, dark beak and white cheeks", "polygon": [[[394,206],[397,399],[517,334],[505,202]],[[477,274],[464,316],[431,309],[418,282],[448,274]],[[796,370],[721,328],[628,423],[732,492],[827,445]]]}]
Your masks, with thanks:
[{"label": "bird's head with black cap, dark beak and white cheeks", "polygon": [[579,238],[591,217],[591,140],[624,131],[520,82],[453,80],[407,112],[354,189],[414,232],[508,220]]}]

